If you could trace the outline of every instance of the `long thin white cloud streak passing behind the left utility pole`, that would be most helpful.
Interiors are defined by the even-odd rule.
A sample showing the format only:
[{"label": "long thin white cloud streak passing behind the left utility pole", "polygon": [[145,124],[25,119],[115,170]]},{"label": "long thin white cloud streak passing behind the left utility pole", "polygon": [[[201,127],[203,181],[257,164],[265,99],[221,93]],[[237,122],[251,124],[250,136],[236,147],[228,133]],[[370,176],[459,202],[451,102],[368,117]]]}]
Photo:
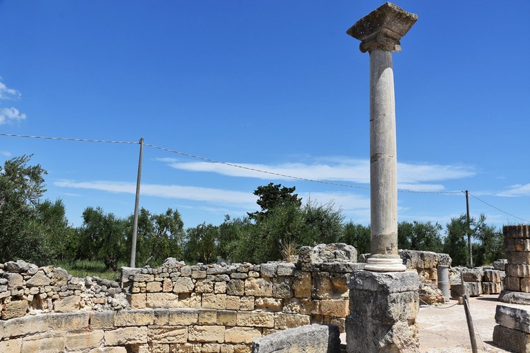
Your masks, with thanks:
[{"label": "long thin white cloud streak passing behind the left utility pole", "polygon": [[[121,181],[72,181],[60,180],[54,185],[63,188],[77,188],[89,190],[101,190],[108,192],[125,192],[135,194],[136,184]],[[197,188],[186,185],[158,185],[142,184],[141,196],[158,196],[170,199],[186,199],[192,201],[206,201],[222,205],[237,205],[240,207],[254,207],[256,196],[248,192],[222,190],[215,188]]]}]

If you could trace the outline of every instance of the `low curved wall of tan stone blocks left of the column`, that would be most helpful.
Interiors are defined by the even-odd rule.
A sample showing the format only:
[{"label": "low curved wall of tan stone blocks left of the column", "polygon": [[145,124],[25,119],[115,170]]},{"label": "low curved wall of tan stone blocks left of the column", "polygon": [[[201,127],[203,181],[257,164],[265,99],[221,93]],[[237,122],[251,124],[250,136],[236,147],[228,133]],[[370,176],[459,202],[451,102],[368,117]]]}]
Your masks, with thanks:
[{"label": "low curved wall of tan stone blocks left of the column", "polygon": [[17,261],[0,269],[0,352],[250,352],[261,336],[310,323],[344,332],[345,244],[297,263],[124,268],[118,282]]}]

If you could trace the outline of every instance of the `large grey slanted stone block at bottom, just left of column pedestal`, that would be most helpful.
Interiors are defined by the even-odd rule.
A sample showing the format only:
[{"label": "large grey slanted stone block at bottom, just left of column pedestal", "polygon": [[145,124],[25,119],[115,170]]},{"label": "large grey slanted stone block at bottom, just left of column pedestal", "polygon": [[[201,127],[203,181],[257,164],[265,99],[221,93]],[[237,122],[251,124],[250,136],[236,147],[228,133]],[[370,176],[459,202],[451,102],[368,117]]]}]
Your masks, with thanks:
[{"label": "large grey slanted stone block at bottom, just left of column pedestal", "polygon": [[338,328],[332,325],[296,327],[255,339],[252,345],[252,352],[340,352],[340,333]]}]

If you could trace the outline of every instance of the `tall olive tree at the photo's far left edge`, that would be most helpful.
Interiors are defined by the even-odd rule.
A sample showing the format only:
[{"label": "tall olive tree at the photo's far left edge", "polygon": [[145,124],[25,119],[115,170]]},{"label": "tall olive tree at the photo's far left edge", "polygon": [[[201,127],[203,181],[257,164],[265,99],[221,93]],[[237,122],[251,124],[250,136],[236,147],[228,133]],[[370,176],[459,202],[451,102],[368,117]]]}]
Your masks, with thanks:
[{"label": "tall olive tree at the photo's far left edge", "polygon": [[44,188],[41,165],[28,165],[32,156],[8,159],[0,166],[0,263],[23,259],[50,260],[46,239],[37,223],[37,205]]}]

